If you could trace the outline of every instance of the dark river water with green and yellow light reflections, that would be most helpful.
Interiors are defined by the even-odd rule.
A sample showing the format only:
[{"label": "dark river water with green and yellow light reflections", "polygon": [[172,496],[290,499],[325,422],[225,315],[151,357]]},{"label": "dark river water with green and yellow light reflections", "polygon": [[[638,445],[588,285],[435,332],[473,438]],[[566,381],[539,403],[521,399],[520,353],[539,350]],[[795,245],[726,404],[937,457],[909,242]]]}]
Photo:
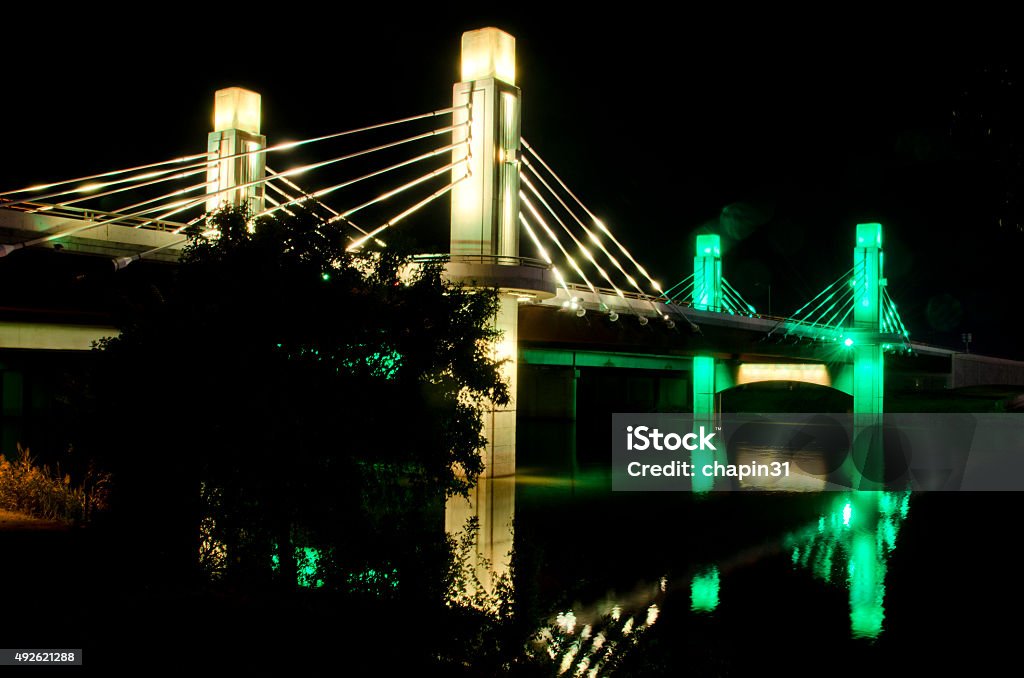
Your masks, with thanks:
[{"label": "dark river water with green and yellow light reflections", "polygon": [[[1012,655],[1012,493],[611,491],[599,438],[520,420],[518,473],[481,482],[481,552],[547,615],[556,675],[978,670]],[[1006,621],[1004,621],[1006,616]]]}]

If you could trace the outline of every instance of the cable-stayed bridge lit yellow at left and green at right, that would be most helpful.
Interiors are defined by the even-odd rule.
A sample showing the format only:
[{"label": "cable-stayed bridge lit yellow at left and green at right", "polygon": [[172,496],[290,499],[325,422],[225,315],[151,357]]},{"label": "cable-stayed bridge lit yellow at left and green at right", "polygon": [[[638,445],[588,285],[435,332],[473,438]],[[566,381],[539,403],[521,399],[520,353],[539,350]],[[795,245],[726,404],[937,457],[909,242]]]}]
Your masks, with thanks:
[{"label": "cable-stayed bridge lit yellow at left and green at right", "polygon": [[[753,382],[836,388],[853,396],[864,425],[885,410],[887,379],[925,389],[1024,385],[1024,364],[912,340],[884,274],[878,223],[851,229],[851,267],[788,316],[759,313],[729,284],[714,234],[697,237],[692,268],[663,286],[630,249],[647,236],[599,218],[523,138],[520,118],[515,40],[497,29],[463,36],[452,105],[396,120],[271,142],[260,95],[220,90],[205,151],[0,190],[0,266],[46,248],[106,258],[116,270],[175,261],[189,237],[218,236],[207,215],[222,206],[245,207],[254,221],[308,209],[358,251],[449,206],[449,251],[423,260],[502,291],[496,350],[509,358],[519,401],[487,417],[485,465],[497,476],[515,471],[517,408],[545,400],[574,416],[581,369],[684,374],[685,407],[708,422],[718,394]],[[83,349],[114,331],[10,311],[0,316],[0,349]],[[559,387],[517,389],[530,367]]]}]

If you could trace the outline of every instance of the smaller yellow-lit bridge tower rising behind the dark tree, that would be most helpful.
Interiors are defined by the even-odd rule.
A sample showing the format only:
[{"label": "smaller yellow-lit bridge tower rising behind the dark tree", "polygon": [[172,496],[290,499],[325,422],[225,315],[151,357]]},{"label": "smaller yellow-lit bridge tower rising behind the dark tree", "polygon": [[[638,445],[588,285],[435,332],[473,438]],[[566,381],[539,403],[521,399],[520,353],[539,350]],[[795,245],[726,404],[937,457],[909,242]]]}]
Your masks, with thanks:
[{"label": "smaller yellow-lit bridge tower rising behind the dark tree", "polygon": [[207,140],[210,160],[220,159],[207,170],[208,212],[222,206],[245,207],[250,214],[263,211],[266,156],[244,155],[266,147],[259,133],[261,97],[241,87],[219,89],[214,95],[213,131]]}]

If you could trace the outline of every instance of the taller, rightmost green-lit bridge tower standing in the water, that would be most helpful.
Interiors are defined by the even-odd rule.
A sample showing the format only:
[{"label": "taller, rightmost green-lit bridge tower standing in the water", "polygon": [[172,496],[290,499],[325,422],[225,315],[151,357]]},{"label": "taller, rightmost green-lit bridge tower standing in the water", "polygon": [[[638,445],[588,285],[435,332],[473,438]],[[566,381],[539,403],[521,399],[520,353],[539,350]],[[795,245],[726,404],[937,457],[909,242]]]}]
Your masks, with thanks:
[{"label": "taller, rightmost green-lit bridge tower standing in the water", "polygon": [[[854,458],[858,473],[854,486],[877,490],[881,480],[881,424],[885,390],[885,354],[882,342],[882,224],[858,223],[853,249],[853,426]],[[874,431],[879,435],[870,435]],[[865,434],[867,433],[867,434]]]}]

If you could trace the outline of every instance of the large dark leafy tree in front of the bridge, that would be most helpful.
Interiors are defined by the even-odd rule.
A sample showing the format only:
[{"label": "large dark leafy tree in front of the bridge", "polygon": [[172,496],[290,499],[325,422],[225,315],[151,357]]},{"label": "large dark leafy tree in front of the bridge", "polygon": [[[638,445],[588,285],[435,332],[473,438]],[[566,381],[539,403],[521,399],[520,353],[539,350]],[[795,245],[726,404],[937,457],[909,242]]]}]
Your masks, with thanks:
[{"label": "large dark leafy tree in front of the bridge", "polygon": [[436,599],[444,500],[481,471],[484,402],[508,400],[497,293],[400,246],[349,254],[309,212],[211,225],[102,346],[93,444],[122,514],[159,523],[164,567],[195,561],[205,517],[232,581],[294,586],[305,565],[306,584],[374,573]]}]

